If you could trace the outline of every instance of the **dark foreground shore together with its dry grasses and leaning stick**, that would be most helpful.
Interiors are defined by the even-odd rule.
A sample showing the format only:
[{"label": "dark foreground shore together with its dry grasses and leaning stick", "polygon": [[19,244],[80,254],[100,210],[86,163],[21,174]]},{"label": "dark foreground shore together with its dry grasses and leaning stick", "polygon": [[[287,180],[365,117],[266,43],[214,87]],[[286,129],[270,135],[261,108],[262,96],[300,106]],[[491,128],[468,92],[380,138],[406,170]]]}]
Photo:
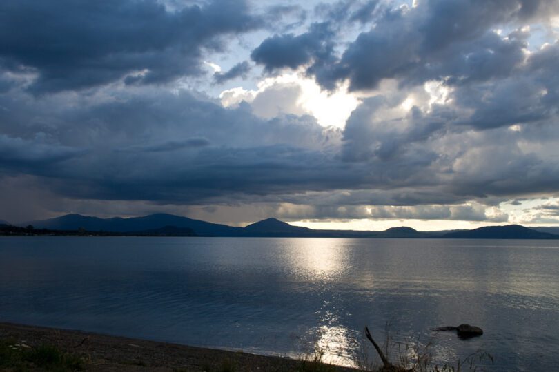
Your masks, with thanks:
[{"label": "dark foreground shore together with its dry grasses and leaning stick", "polygon": [[[257,355],[239,351],[192,347],[85,331],[38,327],[0,322],[1,371],[160,371],[160,372],[459,372],[484,371],[478,365],[489,353],[477,351],[455,365],[433,363],[429,344],[419,347],[413,340],[403,344],[391,341],[386,329],[379,347],[365,328],[380,362],[354,355],[355,367],[324,362],[324,351],[315,349],[299,358]],[[371,347],[370,344],[362,347]],[[382,348],[384,347],[384,351]],[[396,360],[385,355],[400,349]],[[392,364],[393,362],[394,364]]]}]

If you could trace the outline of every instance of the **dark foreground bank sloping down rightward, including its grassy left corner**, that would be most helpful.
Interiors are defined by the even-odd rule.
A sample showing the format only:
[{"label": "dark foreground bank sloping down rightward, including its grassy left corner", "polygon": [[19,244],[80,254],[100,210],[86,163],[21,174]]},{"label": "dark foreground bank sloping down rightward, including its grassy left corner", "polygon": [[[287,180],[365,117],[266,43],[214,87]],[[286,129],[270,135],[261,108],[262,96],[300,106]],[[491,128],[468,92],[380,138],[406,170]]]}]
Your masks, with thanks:
[{"label": "dark foreground bank sloping down rightward, including its grassy left corner", "polygon": [[66,371],[355,371],[330,365],[317,369],[313,364],[240,351],[0,323],[2,371],[21,370],[21,366],[39,371],[51,367]]}]

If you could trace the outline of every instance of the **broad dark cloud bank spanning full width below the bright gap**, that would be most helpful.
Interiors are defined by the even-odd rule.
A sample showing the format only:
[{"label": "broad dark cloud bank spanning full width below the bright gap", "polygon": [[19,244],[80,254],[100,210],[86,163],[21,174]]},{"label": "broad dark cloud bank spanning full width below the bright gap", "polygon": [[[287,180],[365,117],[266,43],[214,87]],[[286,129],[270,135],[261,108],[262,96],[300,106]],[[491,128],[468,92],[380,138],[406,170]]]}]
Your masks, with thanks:
[{"label": "broad dark cloud bank spanning full width below the bright gap", "polygon": [[[386,119],[401,102],[389,96],[364,101],[340,132],[310,116],[264,120],[245,105],[224,109],[185,91],[67,105],[22,94],[10,95],[17,110],[3,112],[12,133],[0,138],[1,173],[35,176],[61,198],[312,205],[289,212],[306,218],[357,218],[363,205],[386,205],[402,208],[370,218],[481,220],[480,208],[452,205],[556,192],[559,184],[553,157],[520,147],[538,138],[507,127],[464,130],[442,105]],[[431,207],[404,208],[421,205]]]}]

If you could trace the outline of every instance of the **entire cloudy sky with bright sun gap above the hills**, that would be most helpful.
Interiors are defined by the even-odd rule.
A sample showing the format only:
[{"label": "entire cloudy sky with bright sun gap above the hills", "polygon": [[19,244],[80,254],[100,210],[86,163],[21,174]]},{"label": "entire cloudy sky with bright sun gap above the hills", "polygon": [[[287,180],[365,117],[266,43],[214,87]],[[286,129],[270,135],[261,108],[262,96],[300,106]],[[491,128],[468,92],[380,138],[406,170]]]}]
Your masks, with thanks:
[{"label": "entire cloudy sky with bright sun gap above the hills", "polygon": [[559,225],[557,0],[3,0],[0,219]]}]

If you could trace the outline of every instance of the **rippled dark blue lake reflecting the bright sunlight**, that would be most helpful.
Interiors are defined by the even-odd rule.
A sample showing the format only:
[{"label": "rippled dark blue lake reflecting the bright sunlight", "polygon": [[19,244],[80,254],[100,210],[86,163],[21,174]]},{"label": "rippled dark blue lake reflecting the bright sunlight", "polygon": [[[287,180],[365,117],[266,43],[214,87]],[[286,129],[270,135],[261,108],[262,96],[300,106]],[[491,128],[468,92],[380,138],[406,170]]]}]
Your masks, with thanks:
[{"label": "rippled dark blue lake reflecting the bright sunlight", "polygon": [[[0,238],[0,321],[338,364],[393,340],[491,371],[559,364],[559,241]],[[459,340],[433,327],[461,323]],[[395,348],[392,357],[398,352]],[[371,354],[373,355],[373,354]]]}]

